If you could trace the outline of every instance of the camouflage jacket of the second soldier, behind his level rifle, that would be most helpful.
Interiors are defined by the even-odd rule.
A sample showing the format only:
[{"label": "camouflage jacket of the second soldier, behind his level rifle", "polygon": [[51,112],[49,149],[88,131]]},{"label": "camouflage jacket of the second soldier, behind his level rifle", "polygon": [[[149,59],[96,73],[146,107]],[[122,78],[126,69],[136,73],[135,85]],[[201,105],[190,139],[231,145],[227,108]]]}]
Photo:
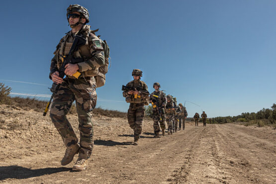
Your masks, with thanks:
[{"label": "camouflage jacket of the second soldier, behind his level rifle", "polygon": [[[141,88],[143,91],[148,91],[148,86],[141,80],[133,80],[127,83],[126,87]],[[133,94],[128,94],[128,91],[123,91],[123,96],[128,103],[148,103],[149,95],[139,92],[135,98]]]}]

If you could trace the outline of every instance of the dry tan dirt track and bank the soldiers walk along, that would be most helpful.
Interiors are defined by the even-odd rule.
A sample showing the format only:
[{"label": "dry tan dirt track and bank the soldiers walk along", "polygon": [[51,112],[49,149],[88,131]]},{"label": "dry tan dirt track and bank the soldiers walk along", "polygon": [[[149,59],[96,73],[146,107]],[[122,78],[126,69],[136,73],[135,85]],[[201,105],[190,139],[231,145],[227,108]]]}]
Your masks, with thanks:
[{"label": "dry tan dirt track and bank the soldiers walk along", "polygon": [[[0,183],[276,183],[271,128],[189,122],[185,130],[153,138],[146,120],[133,146],[126,119],[94,117],[89,167],[71,172],[77,157],[60,165],[65,147],[41,114],[0,105]],[[68,119],[77,131],[77,117]]]}]

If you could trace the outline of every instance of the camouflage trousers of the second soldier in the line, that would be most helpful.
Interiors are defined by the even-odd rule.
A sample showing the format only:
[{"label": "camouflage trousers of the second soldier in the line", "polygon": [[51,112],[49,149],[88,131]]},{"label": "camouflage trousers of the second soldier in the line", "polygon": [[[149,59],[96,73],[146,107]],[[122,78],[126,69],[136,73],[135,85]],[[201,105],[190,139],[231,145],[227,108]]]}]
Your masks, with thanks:
[{"label": "camouflage trousers of the second soldier in the line", "polygon": [[130,103],[127,119],[130,128],[134,131],[134,138],[139,138],[142,133],[142,123],[145,116],[144,103]]}]

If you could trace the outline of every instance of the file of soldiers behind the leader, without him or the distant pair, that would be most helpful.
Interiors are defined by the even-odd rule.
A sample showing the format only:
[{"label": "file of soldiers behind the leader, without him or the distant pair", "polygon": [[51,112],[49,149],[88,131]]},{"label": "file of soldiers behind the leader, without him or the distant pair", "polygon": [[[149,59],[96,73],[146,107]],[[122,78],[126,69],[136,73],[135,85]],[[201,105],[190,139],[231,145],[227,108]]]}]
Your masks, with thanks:
[{"label": "file of soldiers behind the leader, without him or the distant pair", "polygon": [[170,94],[166,95],[164,91],[160,91],[161,86],[159,83],[153,84],[155,91],[149,96],[147,85],[140,80],[142,73],[141,70],[134,69],[132,71],[134,80],[122,87],[126,102],[130,103],[127,117],[129,126],[134,131],[134,145],[138,145],[145,114],[144,105],[148,105],[149,102],[152,104],[155,138],[160,138],[160,130],[162,130],[162,136],[165,136],[165,121],[167,121],[168,125],[168,135],[172,135],[177,132],[178,122],[180,122],[179,130],[181,130],[181,125],[183,125],[183,129],[185,128],[185,118],[187,117],[186,108],[181,103],[178,105],[176,98]]}]

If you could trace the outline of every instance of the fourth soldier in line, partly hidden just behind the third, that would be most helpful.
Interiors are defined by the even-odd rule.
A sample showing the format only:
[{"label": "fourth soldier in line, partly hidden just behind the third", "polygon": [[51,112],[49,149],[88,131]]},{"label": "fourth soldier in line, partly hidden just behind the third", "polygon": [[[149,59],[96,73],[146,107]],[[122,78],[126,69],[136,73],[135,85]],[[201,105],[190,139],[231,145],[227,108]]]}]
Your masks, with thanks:
[{"label": "fourth soldier in line, partly hidden just behind the third", "polygon": [[175,114],[177,111],[177,104],[173,100],[170,94],[167,95],[167,105],[166,105],[166,121],[168,124],[168,135],[173,134],[173,121],[175,120]]}]

